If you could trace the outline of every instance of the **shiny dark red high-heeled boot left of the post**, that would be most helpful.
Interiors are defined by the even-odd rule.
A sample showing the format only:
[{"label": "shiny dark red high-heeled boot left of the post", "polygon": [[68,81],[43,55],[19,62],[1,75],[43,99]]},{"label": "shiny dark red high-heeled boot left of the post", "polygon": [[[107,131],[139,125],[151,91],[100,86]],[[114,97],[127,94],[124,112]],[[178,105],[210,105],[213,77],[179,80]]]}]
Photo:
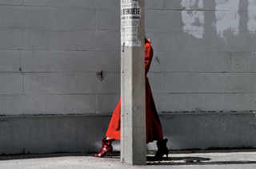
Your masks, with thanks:
[{"label": "shiny dark red high-heeled boot left of the post", "polygon": [[112,142],[114,140],[106,140],[106,137],[102,139],[102,148],[97,154],[94,154],[94,157],[104,157],[107,154],[110,154],[110,157],[112,157],[113,154],[113,147],[112,147]]}]

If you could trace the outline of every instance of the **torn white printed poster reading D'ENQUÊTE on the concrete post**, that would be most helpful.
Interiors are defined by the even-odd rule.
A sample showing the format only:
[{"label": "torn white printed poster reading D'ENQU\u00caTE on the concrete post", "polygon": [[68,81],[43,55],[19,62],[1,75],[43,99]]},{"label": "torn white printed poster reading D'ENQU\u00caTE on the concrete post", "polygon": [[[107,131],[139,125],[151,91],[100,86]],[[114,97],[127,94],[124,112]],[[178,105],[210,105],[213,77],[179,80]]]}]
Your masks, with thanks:
[{"label": "torn white printed poster reading D'ENQU\u00caTE on the concrete post", "polygon": [[139,37],[141,21],[141,7],[138,0],[121,1],[121,45],[127,47],[140,47],[142,41]]}]

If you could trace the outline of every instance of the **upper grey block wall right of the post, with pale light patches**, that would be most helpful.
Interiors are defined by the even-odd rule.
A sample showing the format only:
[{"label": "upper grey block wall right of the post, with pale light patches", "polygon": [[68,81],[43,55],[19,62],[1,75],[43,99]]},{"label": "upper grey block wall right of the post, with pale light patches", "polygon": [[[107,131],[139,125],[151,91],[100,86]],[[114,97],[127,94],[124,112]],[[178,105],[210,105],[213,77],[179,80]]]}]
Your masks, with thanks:
[{"label": "upper grey block wall right of the post, with pale light patches", "polygon": [[150,80],[160,112],[256,109],[254,0],[146,4],[155,49]]}]

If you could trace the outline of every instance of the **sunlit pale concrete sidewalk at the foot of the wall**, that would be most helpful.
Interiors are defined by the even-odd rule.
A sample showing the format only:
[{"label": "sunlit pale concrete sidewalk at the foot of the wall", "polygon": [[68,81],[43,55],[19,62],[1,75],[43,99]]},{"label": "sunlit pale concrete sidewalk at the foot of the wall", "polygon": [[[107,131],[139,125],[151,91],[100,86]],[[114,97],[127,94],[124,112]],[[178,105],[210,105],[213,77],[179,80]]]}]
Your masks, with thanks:
[{"label": "sunlit pale concrete sidewalk at the foot of the wall", "polygon": [[162,162],[151,161],[146,166],[129,166],[120,162],[118,154],[110,158],[94,158],[85,154],[7,155],[0,156],[1,169],[130,169],[130,168],[256,168],[256,152],[177,153]]}]

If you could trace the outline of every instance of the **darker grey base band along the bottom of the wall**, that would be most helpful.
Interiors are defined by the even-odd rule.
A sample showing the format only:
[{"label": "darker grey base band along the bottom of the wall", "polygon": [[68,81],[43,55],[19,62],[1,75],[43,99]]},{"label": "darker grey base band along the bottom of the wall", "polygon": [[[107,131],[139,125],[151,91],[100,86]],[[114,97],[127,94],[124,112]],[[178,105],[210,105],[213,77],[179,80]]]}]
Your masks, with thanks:
[{"label": "darker grey base band along the bottom of the wall", "polygon": [[[160,116],[171,150],[256,147],[255,113],[174,113]],[[96,152],[110,116],[8,116],[0,120],[0,155]],[[120,142],[114,142],[120,151]],[[156,150],[155,143],[148,150]]]}]

